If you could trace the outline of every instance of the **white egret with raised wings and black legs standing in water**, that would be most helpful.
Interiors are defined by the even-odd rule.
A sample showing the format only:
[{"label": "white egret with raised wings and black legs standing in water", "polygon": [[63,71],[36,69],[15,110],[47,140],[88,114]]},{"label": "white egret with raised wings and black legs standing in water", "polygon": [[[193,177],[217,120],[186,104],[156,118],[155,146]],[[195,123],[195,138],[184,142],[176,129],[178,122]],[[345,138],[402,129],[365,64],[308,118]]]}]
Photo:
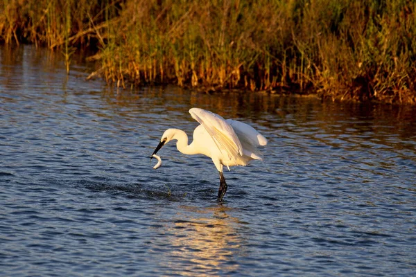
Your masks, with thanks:
[{"label": "white egret with raised wings and black legs standing in water", "polygon": [[246,166],[251,160],[261,160],[257,149],[266,145],[267,140],[256,129],[245,123],[227,119],[204,109],[189,109],[189,114],[200,125],[193,131],[193,141],[188,145],[188,136],[181,129],[167,129],[160,139],[153,155],[163,145],[177,140],[176,147],[183,154],[204,154],[210,157],[220,174],[218,201],[223,201],[227,183],[223,175],[223,166]]}]

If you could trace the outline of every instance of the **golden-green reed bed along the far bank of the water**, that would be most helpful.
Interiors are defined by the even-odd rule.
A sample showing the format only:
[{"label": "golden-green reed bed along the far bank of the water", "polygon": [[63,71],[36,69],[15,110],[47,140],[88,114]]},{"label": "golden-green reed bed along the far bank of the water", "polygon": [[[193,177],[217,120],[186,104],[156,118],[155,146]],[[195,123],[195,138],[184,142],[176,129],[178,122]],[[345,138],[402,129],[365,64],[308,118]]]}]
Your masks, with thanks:
[{"label": "golden-green reed bed along the far bank of the water", "polygon": [[119,86],[416,103],[411,0],[3,0],[0,41],[91,47]]}]

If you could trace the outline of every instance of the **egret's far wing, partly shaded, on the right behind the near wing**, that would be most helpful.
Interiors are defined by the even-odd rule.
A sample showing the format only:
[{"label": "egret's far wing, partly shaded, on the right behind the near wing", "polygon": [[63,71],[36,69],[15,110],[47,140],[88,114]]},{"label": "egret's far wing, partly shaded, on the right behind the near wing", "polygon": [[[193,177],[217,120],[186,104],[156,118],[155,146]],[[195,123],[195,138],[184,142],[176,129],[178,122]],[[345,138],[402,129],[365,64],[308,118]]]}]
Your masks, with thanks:
[{"label": "egret's far wing, partly shaded, on the right behind the near wing", "polygon": [[250,125],[232,119],[225,121],[232,126],[234,132],[239,137],[241,145],[243,145],[243,154],[252,159],[261,160],[262,154],[257,147],[266,145],[267,139]]}]

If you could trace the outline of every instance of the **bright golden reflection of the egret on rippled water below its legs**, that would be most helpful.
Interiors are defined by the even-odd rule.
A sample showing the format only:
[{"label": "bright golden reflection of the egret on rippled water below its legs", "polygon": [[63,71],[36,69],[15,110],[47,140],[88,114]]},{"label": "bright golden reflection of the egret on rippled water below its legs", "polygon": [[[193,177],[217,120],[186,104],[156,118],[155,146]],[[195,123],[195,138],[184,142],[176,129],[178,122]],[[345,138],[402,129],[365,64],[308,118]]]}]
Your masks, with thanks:
[{"label": "bright golden reflection of the egret on rippled water below its legs", "polygon": [[241,222],[227,215],[228,209],[180,206],[171,219],[173,224],[166,229],[172,234],[169,244],[173,251],[168,260],[161,260],[161,266],[180,276],[238,271],[234,256],[245,251],[243,239],[235,229]]}]

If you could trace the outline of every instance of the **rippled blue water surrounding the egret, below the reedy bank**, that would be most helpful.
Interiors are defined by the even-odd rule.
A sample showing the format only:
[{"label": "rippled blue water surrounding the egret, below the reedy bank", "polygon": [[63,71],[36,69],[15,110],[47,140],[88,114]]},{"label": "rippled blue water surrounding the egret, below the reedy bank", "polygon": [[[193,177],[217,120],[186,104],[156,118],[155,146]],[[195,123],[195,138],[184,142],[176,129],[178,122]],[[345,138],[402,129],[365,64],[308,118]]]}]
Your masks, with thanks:
[{"label": "rippled blue water surrounding the egret, below the reedy bank", "polygon": [[[76,57],[76,56],[74,56]],[[416,109],[86,81],[0,48],[1,276],[415,276]],[[249,123],[264,161],[219,178],[165,129]]]}]

